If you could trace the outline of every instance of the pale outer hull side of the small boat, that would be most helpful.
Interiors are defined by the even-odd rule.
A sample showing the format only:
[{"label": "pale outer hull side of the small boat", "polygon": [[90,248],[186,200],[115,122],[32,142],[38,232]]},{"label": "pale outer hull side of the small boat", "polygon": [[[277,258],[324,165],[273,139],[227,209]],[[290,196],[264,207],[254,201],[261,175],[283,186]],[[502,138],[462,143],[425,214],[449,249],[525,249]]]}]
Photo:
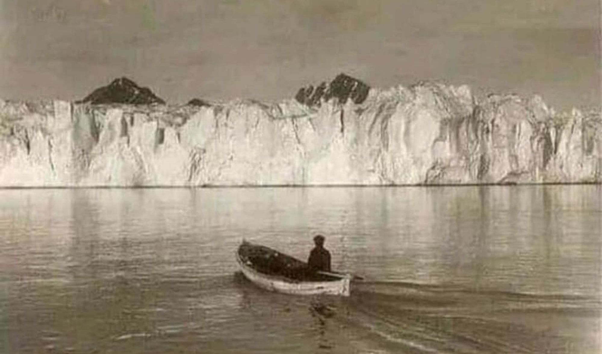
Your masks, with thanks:
[{"label": "pale outer hull side of the small boat", "polygon": [[236,252],[236,259],[244,276],[258,287],[270,291],[295,295],[338,295],[349,296],[351,277],[342,275],[340,279],[330,281],[297,281],[284,276],[268,275],[258,272],[252,264],[243,260],[240,252]]}]

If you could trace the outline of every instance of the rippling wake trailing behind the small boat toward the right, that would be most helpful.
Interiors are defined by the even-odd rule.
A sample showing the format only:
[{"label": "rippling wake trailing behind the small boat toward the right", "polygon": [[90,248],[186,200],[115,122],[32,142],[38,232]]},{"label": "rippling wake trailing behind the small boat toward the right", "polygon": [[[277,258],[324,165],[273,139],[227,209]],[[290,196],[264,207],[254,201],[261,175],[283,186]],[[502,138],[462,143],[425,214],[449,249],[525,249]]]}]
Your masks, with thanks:
[{"label": "rippling wake trailing behind the small boat toward the right", "polygon": [[596,299],[411,282],[354,285],[343,301],[348,315],[338,318],[367,333],[367,340],[385,352],[597,352],[595,333],[590,347],[586,338],[570,333],[574,317],[599,325]]}]

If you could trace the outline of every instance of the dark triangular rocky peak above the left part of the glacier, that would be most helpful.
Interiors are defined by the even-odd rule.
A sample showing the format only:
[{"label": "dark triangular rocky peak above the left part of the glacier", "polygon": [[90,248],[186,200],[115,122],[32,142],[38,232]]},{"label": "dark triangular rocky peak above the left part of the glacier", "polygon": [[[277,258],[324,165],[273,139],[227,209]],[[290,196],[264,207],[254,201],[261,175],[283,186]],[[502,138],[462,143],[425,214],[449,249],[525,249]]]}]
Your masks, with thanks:
[{"label": "dark triangular rocky peak above the left part of the glacier", "polygon": [[152,93],[147,87],[140,87],[128,78],[114,79],[111,84],[92,91],[83,100],[76,103],[104,105],[108,103],[126,103],[129,105],[165,104],[165,101]]}]

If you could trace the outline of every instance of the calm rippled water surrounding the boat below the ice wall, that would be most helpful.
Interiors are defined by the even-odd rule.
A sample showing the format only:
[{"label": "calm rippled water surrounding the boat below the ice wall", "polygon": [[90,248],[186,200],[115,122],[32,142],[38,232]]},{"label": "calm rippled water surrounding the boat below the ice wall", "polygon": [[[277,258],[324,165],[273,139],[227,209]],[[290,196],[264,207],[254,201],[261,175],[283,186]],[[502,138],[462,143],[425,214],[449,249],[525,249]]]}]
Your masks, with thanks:
[{"label": "calm rippled water surrounding the boat below the ice wall", "polygon": [[[237,273],[318,232],[349,298]],[[0,190],[0,352],[598,353],[601,234],[593,185]]]}]

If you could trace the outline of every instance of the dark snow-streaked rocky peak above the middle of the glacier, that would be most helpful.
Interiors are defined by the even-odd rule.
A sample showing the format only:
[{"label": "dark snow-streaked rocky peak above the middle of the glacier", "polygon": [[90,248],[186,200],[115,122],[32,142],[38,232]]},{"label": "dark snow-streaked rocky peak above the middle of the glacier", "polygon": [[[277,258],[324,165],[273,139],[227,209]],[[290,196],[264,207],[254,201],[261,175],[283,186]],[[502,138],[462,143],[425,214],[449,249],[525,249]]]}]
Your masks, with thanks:
[{"label": "dark snow-streaked rocky peak above the middle of the glacier", "polygon": [[320,106],[322,100],[327,102],[333,98],[337,99],[341,105],[347,103],[349,99],[353,103],[359,104],[366,100],[369,91],[370,86],[364,84],[364,82],[341,73],[330,84],[322,82],[315,88],[312,85],[300,88],[295,95],[295,99],[297,102],[310,107]]}]

